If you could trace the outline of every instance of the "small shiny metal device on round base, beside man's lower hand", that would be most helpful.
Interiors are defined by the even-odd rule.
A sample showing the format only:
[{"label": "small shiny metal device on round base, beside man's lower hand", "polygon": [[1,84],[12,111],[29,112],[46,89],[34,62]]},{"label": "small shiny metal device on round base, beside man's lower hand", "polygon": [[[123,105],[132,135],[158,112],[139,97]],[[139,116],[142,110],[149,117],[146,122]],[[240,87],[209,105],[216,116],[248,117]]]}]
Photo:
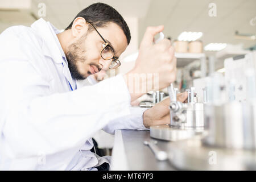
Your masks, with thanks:
[{"label": "small shiny metal device on round base, beside man's lower hand", "polygon": [[171,84],[170,124],[151,126],[150,136],[163,140],[182,140],[204,132],[204,104],[197,102],[195,88],[188,91],[188,103],[177,101],[177,88]]}]

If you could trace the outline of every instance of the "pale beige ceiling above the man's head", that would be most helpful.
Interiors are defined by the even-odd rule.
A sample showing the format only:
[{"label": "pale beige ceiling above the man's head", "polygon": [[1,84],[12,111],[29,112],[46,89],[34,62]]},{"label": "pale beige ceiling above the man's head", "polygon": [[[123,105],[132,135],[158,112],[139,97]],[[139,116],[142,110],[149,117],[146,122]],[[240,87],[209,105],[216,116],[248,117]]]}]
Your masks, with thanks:
[{"label": "pale beige ceiling above the man's head", "polygon": [[[31,0],[31,12],[38,16],[38,4],[46,4],[46,17],[57,28],[65,28],[77,13],[96,3],[94,0]],[[234,39],[234,32],[256,34],[256,25],[250,20],[256,16],[255,0],[101,0],[113,6],[125,17],[139,19],[139,40],[147,26],[164,24],[164,34],[176,39],[183,31],[202,31],[204,44],[210,42],[243,43],[245,47],[255,41]],[[217,16],[208,15],[209,3],[216,3]],[[34,18],[0,10],[0,32],[13,24],[31,24]]]}]

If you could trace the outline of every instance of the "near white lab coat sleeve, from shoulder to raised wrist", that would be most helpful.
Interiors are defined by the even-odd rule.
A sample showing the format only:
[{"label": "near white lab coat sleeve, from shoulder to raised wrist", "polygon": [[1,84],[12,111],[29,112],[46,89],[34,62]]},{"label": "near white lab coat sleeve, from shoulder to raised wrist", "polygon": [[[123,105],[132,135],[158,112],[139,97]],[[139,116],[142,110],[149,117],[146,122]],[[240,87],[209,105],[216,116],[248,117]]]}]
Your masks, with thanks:
[{"label": "near white lab coat sleeve, from shoulder to raised wrist", "polygon": [[112,119],[130,114],[122,75],[72,92],[54,90],[57,65],[46,59],[42,45],[23,26],[0,34],[0,142],[9,158],[78,151]]}]

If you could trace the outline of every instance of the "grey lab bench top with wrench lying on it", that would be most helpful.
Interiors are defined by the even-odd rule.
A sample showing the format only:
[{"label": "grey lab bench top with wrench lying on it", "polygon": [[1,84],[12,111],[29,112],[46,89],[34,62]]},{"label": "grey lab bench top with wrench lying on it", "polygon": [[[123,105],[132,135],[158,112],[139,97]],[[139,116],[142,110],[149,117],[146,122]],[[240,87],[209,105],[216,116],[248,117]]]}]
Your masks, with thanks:
[{"label": "grey lab bench top with wrench lying on it", "polygon": [[[113,170],[175,170],[168,160],[159,161],[155,158],[150,147],[144,144],[145,140],[154,140],[149,130],[116,130],[112,152]],[[157,140],[160,150],[168,151],[165,140]]]}]

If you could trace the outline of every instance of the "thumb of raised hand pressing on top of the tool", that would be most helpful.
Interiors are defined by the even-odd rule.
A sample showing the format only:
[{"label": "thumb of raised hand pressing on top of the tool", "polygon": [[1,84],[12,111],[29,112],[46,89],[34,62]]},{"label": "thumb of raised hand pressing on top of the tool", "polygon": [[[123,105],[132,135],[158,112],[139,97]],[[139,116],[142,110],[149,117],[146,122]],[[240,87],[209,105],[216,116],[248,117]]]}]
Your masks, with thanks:
[{"label": "thumb of raised hand pressing on top of the tool", "polygon": [[163,28],[163,25],[157,27],[147,27],[141,42],[141,47],[151,46],[154,41],[154,36],[159,32],[162,32]]}]

